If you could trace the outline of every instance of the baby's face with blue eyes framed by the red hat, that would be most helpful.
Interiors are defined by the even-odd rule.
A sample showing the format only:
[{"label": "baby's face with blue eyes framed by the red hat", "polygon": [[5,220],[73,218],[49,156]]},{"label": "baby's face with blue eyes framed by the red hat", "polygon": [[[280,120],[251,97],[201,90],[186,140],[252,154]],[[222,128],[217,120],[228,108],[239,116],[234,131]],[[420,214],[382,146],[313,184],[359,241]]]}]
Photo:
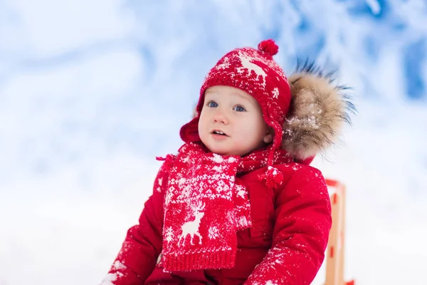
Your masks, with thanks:
[{"label": "baby's face with blue eyes framed by the red hat", "polygon": [[205,92],[199,136],[211,152],[243,156],[273,140],[258,102],[238,88],[213,86]]}]

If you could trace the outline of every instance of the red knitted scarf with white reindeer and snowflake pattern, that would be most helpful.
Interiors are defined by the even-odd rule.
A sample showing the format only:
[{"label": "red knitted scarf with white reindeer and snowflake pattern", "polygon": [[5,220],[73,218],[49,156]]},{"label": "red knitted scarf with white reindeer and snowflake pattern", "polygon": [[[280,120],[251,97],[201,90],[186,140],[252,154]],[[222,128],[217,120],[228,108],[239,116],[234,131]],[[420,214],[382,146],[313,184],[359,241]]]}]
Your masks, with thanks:
[{"label": "red knitted scarf with white reindeer and snowflake pattern", "polygon": [[[236,175],[265,167],[267,157],[267,150],[246,157],[221,156],[194,143],[183,145],[176,156],[167,156],[160,263],[164,269],[234,266],[237,231],[251,227],[248,191]],[[280,162],[292,161],[281,150],[276,151],[275,161],[278,157]]]}]

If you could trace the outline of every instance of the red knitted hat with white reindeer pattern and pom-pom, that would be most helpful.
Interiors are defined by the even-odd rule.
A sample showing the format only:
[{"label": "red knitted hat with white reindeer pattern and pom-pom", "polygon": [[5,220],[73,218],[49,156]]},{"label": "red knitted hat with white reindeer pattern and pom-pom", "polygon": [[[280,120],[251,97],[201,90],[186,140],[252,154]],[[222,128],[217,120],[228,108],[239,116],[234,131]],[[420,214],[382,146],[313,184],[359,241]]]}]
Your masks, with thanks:
[{"label": "red knitted hat with white reindeer pattern and pom-pom", "polygon": [[273,60],[278,46],[271,39],[255,48],[236,48],[223,56],[209,71],[200,90],[196,116],[181,128],[184,142],[199,141],[197,125],[204,105],[204,93],[211,86],[231,86],[249,93],[260,104],[265,123],[274,130],[268,165],[273,162],[274,150],[282,141],[282,125],[290,105],[290,85],[282,68]]}]

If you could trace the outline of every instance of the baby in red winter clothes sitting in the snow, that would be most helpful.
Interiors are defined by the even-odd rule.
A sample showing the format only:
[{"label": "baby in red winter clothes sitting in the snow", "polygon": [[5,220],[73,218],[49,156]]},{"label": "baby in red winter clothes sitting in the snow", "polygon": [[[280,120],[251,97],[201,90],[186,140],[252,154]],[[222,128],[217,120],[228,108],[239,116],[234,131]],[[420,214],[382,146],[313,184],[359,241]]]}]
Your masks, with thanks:
[{"label": "baby in red winter clothes sitting in the snow", "polygon": [[305,65],[286,78],[273,40],[236,48],[209,71],[184,140],[167,155],[102,284],[310,284],[331,228],[310,167],[351,110]]}]

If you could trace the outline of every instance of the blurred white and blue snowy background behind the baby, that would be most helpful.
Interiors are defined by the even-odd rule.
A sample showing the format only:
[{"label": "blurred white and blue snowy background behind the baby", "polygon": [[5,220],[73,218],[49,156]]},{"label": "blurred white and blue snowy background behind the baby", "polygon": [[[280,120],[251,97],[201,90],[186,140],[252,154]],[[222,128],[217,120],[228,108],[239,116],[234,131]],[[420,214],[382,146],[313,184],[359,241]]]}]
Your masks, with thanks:
[{"label": "blurred white and blue snowy background behind the baby", "polygon": [[98,284],[206,72],[265,38],[354,88],[314,162],[347,185],[346,276],[427,284],[423,0],[0,0],[0,284]]}]

